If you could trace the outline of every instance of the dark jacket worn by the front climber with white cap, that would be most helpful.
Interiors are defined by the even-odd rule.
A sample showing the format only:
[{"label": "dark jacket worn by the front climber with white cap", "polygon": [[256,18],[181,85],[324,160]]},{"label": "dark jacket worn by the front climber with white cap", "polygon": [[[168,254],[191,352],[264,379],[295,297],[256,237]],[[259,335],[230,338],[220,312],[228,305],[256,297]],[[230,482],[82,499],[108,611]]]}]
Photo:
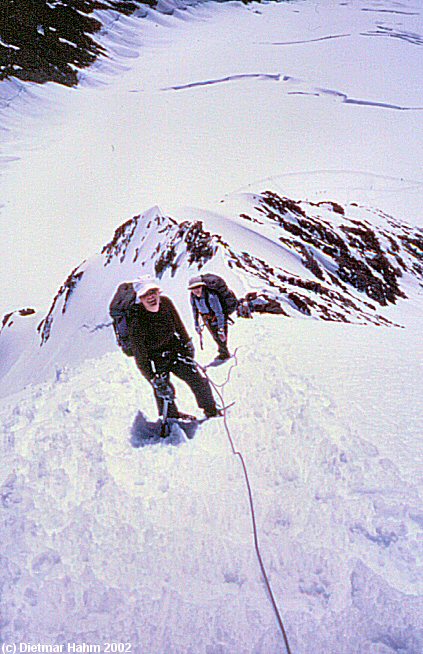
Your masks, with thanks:
[{"label": "dark jacket worn by the front climber with white cap", "polygon": [[128,312],[127,322],[131,350],[138,368],[149,380],[154,376],[152,360],[157,360],[164,352],[176,355],[190,340],[173,302],[164,295],[160,297],[157,313],[134,304]]}]

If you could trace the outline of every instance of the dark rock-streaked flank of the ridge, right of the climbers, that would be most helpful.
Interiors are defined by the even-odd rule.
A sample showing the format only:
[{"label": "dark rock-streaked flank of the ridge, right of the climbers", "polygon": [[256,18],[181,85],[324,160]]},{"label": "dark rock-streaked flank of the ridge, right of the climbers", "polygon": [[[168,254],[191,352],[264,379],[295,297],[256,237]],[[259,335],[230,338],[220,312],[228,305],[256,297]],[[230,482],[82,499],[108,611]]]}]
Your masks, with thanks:
[{"label": "dark rock-streaked flank of the ridge, right of the climbers", "polygon": [[422,277],[421,231],[382,212],[377,215],[378,225],[372,212],[356,205],[346,212],[334,202],[300,203],[271,191],[254,196],[254,205],[251,215],[240,213],[240,217],[270,227],[273,237],[297,253],[312,276],[294,277],[245,253],[237,258],[237,265],[267,278],[306,315],[386,324],[377,312],[407,297],[401,278]]}]

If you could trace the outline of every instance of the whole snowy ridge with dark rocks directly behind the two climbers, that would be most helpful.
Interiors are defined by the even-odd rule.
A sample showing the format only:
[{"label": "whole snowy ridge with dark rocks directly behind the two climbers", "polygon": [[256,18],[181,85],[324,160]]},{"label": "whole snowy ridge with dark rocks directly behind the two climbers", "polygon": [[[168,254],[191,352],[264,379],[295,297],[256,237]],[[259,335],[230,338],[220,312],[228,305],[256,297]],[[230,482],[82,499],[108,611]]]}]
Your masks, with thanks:
[{"label": "whole snowy ridge with dark rocks directly behind the two climbers", "polygon": [[272,191],[233,198],[221,214],[166,216],[153,207],[70,273],[45,317],[22,309],[3,318],[2,393],[29,383],[34,372],[41,380],[52,366],[54,372],[113,350],[111,298],[140,274],[155,275],[165,293],[182,297],[188,320],[187,281],[209,271],[257,314],[393,325],[395,305],[412,303],[419,290],[421,247],[418,229],[381,212]]}]

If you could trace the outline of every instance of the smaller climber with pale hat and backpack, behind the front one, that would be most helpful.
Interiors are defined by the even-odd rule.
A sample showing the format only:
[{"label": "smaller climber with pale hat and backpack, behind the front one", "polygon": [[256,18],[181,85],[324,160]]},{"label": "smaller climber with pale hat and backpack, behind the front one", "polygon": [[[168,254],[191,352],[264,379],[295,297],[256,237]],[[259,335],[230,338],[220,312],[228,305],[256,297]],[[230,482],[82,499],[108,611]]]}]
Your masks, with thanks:
[{"label": "smaller climber with pale hat and backpack, behind the front one", "polygon": [[188,290],[191,291],[195,331],[201,338],[205,325],[218,347],[215,360],[226,361],[231,357],[228,349],[228,317],[238,304],[235,294],[221,277],[212,273],[192,277]]}]

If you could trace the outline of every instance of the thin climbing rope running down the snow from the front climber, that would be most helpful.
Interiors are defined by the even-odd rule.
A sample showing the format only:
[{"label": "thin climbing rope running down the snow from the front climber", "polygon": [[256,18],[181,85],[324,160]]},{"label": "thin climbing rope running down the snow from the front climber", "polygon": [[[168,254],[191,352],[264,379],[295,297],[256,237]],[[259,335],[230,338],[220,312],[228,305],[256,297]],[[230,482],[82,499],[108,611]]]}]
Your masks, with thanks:
[{"label": "thin climbing rope running down the snow from the front climber", "polygon": [[252,492],[252,488],[251,488],[250,478],[248,476],[247,465],[245,463],[245,460],[244,460],[244,457],[243,457],[242,453],[239,450],[237,450],[236,447],[235,447],[235,444],[234,444],[234,441],[233,441],[233,438],[231,436],[231,432],[230,432],[230,429],[229,429],[227,415],[226,415],[227,414],[227,409],[225,408],[224,388],[225,388],[226,384],[229,382],[229,379],[230,379],[231,372],[232,372],[233,368],[235,368],[238,365],[238,360],[236,358],[236,353],[237,353],[237,350],[235,350],[235,352],[233,354],[233,358],[235,360],[235,363],[233,363],[231,365],[231,367],[229,368],[228,375],[227,375],[225,381],[223,382],[223,384],[216,384],[212,379],[210,379],[210,377],[207,374],[207,370],[205,368],[200,366],[198,363],[197,363],[197,366],[203,372],[203,374],[207,377],[210,385],[215,390],[219,400],[222,403],[222,407],[223,407],[223,409],[222,409],[223,424],[225,426],[226,435],[228,437],[232,452],[240,460],[241,466],[242,466],[242,469],[243,469],[243,472],[244,472],[245,483],[246,483],[247,491],[248,491],[248,500],[249,500],[249,503],[250,503],[250,514],[251,514],[251,523],[252,523],[253,536],[254,536],[254,547],[255,547],[255,550],[256,550],[256,555],[257,555],[257,559],[258,559],[258,562],[259,562],[261,574],[262,574],[262,577],[263,577],[263,580],[264,580],[264,583],[265,583],[265,586],[266,586],[267,594],[269,596],[270,602],[271,602],[272,607],[273,607],[273,611],[274,611],[275,616],[276,616],[276,620],[277,620],[279,629],[280,629],[280,631],[282,633],[282,637],[283,637],[283,641],[284,641],[284,644],[285,644],[286,652],[287,652],[287,654],[292,654],[291,648],[289,647],[288,636],[286,634],[285,627],[284,627],[284,624],[283,624],[283,621],[282,621],[282,616],[280,614],[278,605],[276,603],[276,599],[275,599],[275,596],[273,594],[272,587],[271,587],[270,581],[269,581],[269,577],[267,575],[266,568],[264,567],[263,558],[262,558],[261,551],[260,551],[260,543],[259,543],[259,537],[258,537],[256,512],[255,512],[255,508],[254,508],[253,492]]}]

